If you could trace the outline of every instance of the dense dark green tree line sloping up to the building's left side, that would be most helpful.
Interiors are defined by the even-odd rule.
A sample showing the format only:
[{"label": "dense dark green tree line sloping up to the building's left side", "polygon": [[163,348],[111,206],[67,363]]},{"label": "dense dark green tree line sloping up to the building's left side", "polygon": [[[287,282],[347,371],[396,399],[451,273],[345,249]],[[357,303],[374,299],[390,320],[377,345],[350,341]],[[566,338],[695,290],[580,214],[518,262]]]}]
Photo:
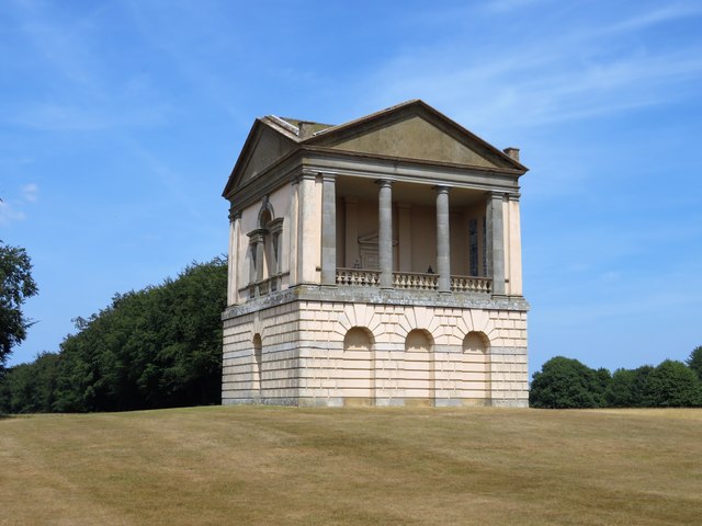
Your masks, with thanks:
[{"label": "dense dark green tree line sloping up to the building's left side", "polygon": [[58,353],[0,370],[0,413],[89,412],[220,403],[227,265],[117,294]]}]

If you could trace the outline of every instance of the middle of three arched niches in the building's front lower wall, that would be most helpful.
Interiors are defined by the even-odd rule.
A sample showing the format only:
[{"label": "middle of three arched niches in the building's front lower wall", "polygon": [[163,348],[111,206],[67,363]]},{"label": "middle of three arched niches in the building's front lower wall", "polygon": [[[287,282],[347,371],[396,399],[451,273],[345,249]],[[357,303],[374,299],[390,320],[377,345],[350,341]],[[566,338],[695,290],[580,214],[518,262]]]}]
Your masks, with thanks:
[{"label": "middle of three arched niches in the building's front lower wall", "polygon": [[433,343],[423,329],[410,331],[405,339],[405,403],[434,403]]}]

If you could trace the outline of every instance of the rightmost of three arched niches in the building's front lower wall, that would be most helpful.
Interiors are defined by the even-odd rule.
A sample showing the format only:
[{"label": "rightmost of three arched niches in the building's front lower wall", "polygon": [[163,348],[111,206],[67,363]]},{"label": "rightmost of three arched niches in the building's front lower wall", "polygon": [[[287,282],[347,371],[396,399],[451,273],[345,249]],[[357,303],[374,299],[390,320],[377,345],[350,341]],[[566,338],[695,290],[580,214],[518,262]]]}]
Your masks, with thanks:
[{"label": "rightmost of three arched niches in the building's front lower wall", "polygon": [[490,341],[484,332],[471,331],[463,339],[462,398],[490,399]]}]

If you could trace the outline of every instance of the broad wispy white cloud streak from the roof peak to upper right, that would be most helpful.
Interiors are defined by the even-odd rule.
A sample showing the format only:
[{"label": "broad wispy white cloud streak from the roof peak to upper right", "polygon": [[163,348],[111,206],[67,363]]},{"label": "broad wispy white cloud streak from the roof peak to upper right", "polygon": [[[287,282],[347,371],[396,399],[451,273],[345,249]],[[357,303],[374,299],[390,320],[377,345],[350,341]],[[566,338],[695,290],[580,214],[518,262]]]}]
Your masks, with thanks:
[{"label": "broad wispy white cloud streak from the roof peak to upper right", "polygon": [[512,42],[497,44],[462,34],[437,47],[406,49],[383,65],[371,83],[382,87],[381,104],[419,95],[460,121],[488,128],[550,125],[675,103],[698,96],[702,47],[691,39],[675,48],[648,48],[639,33],[701,14],[702,8],[690,3],[620,14],[609,24],[564,14],[564,20],[532,28],[532,36],[516,28]]}]

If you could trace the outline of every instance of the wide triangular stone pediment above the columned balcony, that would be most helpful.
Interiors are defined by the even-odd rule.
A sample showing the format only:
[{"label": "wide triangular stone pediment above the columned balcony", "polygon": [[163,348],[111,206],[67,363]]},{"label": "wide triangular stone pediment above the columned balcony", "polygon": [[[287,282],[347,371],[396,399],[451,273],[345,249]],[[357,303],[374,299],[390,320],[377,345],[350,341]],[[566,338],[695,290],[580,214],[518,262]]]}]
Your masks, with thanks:
[{"label": "wide triangular stone pediment above the columned balcony", "polygon": [[410,101],[329,128],[305,142],[374,156],[526,171],[422,101]]}]

